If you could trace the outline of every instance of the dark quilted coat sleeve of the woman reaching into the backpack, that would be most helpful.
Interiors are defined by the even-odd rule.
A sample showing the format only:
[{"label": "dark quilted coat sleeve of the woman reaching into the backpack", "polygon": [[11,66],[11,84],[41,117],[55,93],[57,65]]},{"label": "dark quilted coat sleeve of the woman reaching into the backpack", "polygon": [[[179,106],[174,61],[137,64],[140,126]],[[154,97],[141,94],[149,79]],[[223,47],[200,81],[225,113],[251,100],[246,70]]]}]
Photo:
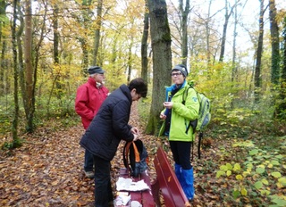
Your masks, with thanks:
[{"label": "dark quilted coat sleeve of the woman reaching into the backpack", "polygon": [[130,102],[122,100],[114,106],[113,112],[113,128],[117,137],[130,142],[134,139],[130,131],[132,128],[128,122],[130,118]]}]

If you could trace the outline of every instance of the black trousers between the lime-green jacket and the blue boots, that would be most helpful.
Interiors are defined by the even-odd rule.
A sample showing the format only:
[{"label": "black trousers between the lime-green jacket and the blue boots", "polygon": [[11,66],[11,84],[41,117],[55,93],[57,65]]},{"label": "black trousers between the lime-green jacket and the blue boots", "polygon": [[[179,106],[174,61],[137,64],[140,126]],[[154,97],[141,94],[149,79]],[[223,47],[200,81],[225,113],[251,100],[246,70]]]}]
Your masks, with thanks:
[{"label": "black trousers between the lime-green jacket and the blue boots", "polygon": [[170,141],[172,158],[176,164],[181,165],[183,170],[191,169],[190,148],[191,142]]}]

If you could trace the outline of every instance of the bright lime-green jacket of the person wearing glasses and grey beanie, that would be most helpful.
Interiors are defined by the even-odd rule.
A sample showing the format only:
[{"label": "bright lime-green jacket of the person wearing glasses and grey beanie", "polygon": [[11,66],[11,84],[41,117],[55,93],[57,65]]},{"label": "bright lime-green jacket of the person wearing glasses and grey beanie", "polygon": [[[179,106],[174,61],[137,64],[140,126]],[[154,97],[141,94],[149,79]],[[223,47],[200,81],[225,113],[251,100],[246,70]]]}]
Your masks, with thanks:
[{"label": "bright lime-green jacket of the person wearing glasses and grey beanie", "polygon": [[[171,86],[173,87],[173,85]],[[169,87],[170,88],[170,87]],[[195,133],[193,133],[193,128],[189,127],[189,130],[186,133],[186,130],[189,126],[189,120],[198,119],[198,96],[197,92],[190,87],[188,96],[185,97],[185,104],[181,104],[182,95],[184,91],[189,88],[188,84],[185,84],[181,89],[172,96],[172,116],[171,116],[171,126],[169,132],[170,141],[183,141],[190,142],[194,141]],[[169,94],[171,91],[169,92]],[[162,111],[164,112],[165,109]],[[164,133],[165,121],[160,128],[159,136],[162,136]]]}]

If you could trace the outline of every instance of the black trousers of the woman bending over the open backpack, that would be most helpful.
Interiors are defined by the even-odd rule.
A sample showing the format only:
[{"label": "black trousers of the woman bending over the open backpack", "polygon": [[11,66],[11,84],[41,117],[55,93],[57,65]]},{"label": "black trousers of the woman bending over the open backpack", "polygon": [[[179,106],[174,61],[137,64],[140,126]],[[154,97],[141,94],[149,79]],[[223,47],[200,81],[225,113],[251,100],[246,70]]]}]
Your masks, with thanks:
[{"label": "black trousers of the woman bending over the open backpack", "polygon": [[110,161],[94,156],[95,161],[95,206],[108,207],[114,201],[110,178]]}]

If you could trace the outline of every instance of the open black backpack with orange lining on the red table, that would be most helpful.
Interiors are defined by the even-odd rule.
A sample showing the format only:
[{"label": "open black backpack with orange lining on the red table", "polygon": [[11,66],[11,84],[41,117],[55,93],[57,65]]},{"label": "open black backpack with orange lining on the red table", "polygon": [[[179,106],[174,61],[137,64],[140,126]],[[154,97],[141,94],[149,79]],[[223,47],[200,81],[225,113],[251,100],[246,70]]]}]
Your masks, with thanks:
[{"label": "open black backpack with orange lining on the red table", "polygon": [[139,177],[139,173],[147,170],[148,153],[143,142],[138,139],[133,142],[126,142],[123,148],[123,162],[130,175]]}]

